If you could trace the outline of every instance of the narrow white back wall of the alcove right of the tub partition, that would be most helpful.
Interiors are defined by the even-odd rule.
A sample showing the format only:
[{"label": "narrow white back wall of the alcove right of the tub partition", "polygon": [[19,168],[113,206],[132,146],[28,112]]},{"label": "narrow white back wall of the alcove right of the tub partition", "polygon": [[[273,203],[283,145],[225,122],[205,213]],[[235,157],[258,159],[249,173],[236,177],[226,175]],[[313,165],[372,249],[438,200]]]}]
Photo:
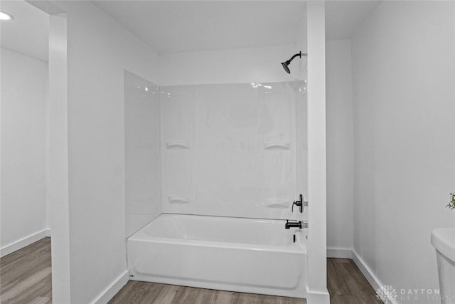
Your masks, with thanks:
[{"label": "narrow white back wall of the alcove right of the tub partition", "polygon": [[353,248],[350,40],[326,41],[327,248]]}]

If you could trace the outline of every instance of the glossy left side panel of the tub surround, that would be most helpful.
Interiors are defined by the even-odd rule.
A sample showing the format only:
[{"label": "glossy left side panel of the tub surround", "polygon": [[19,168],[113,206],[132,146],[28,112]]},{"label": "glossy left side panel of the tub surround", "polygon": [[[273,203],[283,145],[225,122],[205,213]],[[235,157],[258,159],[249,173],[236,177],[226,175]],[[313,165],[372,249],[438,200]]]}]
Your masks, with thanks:
[{"label": "glossy left side panel of the tub surround", "polygon": [[129,237],[161,214],[158,87],[124,72],[125,210]]}]

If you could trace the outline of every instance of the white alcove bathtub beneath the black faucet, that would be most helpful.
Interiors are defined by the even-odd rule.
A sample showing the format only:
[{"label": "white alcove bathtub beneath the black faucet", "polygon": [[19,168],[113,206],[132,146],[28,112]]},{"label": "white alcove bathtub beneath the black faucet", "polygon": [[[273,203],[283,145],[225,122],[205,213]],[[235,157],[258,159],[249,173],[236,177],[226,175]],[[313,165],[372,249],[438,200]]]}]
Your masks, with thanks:
[{"label": "white alcove bathtub beneath the black faucet", "polygon": [[161,214],[127,241],[130,278],[306,298],[305,238],[284,223]]}]

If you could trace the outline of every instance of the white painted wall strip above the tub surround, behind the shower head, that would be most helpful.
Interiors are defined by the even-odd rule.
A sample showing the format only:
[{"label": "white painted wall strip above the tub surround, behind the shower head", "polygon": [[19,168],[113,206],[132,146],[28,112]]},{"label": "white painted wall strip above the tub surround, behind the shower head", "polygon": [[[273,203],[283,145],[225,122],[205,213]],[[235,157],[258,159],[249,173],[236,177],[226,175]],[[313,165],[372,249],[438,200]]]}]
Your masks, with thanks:
[{"label": "white painted wall strip above the tub surround, behind the shower head", "polygon": [[291,81],[299,75],[299,58],[289,65],[290,75],[280,63],[294,53],[296,46],[287,45],[164,54],[159,57],[159,85]]}]

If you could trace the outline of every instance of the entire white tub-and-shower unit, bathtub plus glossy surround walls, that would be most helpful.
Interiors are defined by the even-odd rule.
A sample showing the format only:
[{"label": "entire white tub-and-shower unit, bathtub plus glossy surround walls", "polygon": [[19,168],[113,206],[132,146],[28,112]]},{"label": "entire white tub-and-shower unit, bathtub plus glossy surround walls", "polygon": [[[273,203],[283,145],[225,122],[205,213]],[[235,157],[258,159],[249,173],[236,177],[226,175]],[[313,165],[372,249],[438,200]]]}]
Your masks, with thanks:
[{"label": "entire white tub-and-shower unit, bathtub plus glossy surround walls", "polygon": [[131,279],[305,298],[306,229],[284,229],[306,219],[291,211],[306,195],[305,83],[136,80],[125,90]]}]

